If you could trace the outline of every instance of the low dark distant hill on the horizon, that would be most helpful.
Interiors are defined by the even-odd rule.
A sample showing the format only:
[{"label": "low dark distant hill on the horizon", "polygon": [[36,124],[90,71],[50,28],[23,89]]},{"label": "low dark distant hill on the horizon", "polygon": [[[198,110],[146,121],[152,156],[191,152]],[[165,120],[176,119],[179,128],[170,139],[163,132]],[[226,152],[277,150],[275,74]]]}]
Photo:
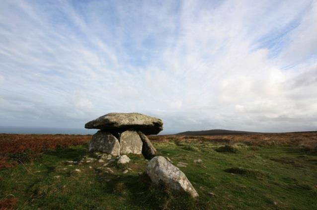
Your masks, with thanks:
[{"label": "low dark distant hill on the horizon", "polygon": [[175,135],[216,136],[216,135],[245,135],[245,134],[261,134],[261,133],[213,129],[213,130],[208,130],[208,131],[186,131],[186,132],[178,133]]}]

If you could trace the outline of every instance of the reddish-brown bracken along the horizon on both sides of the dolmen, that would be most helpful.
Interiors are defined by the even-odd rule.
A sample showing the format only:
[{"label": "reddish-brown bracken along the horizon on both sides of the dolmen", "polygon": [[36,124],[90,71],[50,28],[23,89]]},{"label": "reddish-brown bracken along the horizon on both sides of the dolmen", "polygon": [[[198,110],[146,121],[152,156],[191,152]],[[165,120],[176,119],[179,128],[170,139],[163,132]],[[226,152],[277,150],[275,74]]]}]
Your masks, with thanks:
[{"label": "reddish-brown bracken along the horizon on both sides of the dolmen", "polygon": [[[0,135],[0,168],[16,165],[8,161],[11,154],[27,154],[28,160],[33,160],[40,152],[55,149],[57,146],[80,145],[89,142],[90,135]],[[156,142],[176,140],[177,142],[222,143],[235,144],[238,142],[252,146],[293,146],[305,152],[317,152],[317,133],[284,133],[284,134],[252,134],[227,136],[178,136],[159,135],[149,136]]]}]

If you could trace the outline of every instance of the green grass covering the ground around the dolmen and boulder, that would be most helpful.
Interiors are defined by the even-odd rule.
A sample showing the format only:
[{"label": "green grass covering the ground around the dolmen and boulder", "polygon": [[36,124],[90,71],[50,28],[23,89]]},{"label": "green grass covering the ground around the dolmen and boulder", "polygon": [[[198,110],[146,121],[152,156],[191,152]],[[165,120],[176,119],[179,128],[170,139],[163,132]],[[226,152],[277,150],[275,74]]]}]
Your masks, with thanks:
[{"label": "green grass covering the ground around the dolmen and boulder", "polygon": [[[154,143],[199,194],[198,199],[151,183],[147,160],[129,155],[127,166],[72,164],[94,157],[85,146],[44,152],[33,163],[0,170],[0,199],[17,198],[17,209],[301,209],[317,207],[317,156],[290,147],[247,147],[217,152],[212,143]],[[195,159],[202,162],[195,163]],[[86,159],[85,159],[86,160]],[[89,168],[91,166],[91,168]],[[130,168],[128,173],[122,172]],[[79,169],[81,172],[75,172]],[[59,176],[58,178],[56,176]],[[212,193],[212,195],[210,194]]]}]

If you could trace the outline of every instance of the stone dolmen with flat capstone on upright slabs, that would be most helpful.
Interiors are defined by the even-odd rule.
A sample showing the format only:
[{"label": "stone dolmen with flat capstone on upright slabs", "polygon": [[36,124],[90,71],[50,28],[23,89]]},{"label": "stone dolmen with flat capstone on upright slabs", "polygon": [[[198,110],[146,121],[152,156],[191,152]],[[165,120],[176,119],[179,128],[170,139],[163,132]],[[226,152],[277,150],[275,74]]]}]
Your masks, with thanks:
[{"label": "stone dolmen with flat capstone on upright slabs", "polygon": [[85,124],[86,129],[99,129],[89,142],[89,151],[112,155],[143,154],[153,158],[157,151],[146,135],[163,130],[163,122],[140,113],[109,113]]}]

